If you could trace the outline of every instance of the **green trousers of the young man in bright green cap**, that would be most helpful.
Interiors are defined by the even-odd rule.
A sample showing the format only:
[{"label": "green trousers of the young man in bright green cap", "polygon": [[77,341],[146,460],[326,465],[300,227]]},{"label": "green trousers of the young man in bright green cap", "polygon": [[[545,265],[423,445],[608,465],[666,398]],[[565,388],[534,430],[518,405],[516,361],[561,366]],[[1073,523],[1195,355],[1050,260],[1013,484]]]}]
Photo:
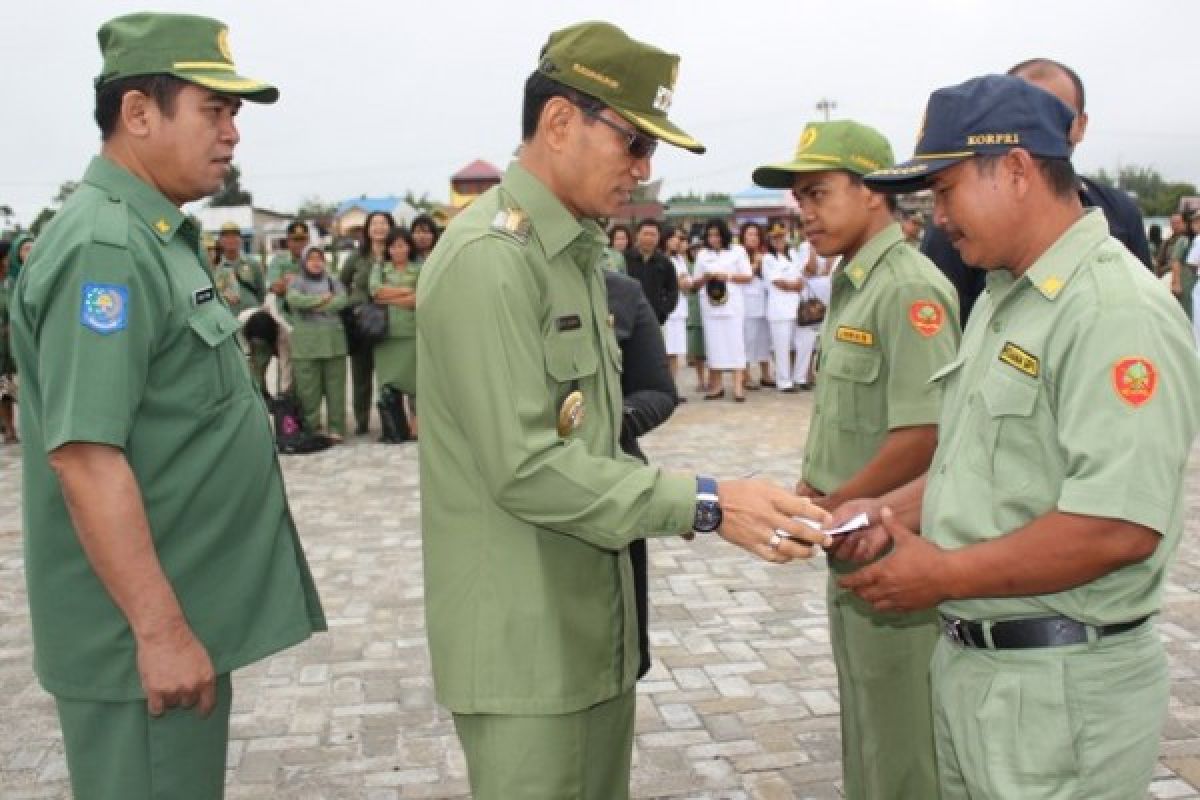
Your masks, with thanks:
[{"label": "green trousers of the young man in bright green cap", "polygon": [[929,661],[936,613],[881,614],[829,571],[829,639],[841,698],[847,800],[937,800]]}]

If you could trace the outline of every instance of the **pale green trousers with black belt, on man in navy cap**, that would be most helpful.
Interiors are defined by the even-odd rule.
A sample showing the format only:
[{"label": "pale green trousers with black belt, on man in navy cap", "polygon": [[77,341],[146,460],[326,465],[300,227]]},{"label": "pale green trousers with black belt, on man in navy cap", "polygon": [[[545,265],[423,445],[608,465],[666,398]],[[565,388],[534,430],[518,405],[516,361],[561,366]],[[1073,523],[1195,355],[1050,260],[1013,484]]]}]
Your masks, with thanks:
[{"label": "pale green trousers with black belt, on man in navy cap", "polygon": [[1145,798],[1170,684],[1153,622],[1091,644],[934,652],[943,800]]}]

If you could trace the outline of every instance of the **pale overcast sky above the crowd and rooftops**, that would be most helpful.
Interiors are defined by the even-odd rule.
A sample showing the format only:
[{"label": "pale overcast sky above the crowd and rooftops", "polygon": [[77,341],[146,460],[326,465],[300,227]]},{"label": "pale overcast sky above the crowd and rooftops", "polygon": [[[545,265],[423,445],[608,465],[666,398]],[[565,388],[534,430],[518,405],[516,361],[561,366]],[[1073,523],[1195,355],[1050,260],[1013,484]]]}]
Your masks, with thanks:
[{"label": "pale overcast sky above the crowd and rooftops", "polygon": [[[1075,67],[1091,125],[1085,172],[1147,164],[1200,184],[1200,2],[1195,0],[521,0],[433,2],[158,0],[229,25],[244,74],[275,83],[248,104],[235,161],[256,205],[307,197],[449,193],[474,158],[503,169],[520,138],[521,85],[546,35],[605,18],[683,56],[671,116],[708,145],[668,146],[674,192],[736,192],[788,157],[822,97],[912,152],[929,92],[1030,56]],[[0,204],[29,224],[98,148],[96,29],[144,8],[119,0],[0,0]]]}]

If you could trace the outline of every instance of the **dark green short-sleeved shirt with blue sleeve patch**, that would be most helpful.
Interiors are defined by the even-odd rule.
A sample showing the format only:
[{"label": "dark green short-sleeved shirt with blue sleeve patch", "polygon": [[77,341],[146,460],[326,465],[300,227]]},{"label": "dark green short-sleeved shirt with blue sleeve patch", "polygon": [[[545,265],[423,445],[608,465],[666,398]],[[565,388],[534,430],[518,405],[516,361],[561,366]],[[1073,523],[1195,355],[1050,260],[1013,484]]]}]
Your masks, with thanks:
[{"label": "dark green short-sleeved shirt with blue sleeve patch", "polygon": [[133,636],[84,554],[48,453],[124,451],[162,569],[218,674],[324,630],[263,399],[199,231],[104,157],[48,225],[12,308],[25,575],[52,693],[143,697]]}]

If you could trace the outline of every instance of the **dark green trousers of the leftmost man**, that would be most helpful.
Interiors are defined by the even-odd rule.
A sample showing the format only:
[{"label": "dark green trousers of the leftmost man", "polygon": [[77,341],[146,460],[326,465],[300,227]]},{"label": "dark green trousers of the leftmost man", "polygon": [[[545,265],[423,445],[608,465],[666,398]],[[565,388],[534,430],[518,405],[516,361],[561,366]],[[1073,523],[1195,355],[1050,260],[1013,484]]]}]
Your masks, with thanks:
[{"label": "dark green trousers of the leftmost man", "polygon": [[220,800],[232,700],[229,675],[204,720],[186,709],[152,717],[145,700],[56,697],[76,800]]}]

